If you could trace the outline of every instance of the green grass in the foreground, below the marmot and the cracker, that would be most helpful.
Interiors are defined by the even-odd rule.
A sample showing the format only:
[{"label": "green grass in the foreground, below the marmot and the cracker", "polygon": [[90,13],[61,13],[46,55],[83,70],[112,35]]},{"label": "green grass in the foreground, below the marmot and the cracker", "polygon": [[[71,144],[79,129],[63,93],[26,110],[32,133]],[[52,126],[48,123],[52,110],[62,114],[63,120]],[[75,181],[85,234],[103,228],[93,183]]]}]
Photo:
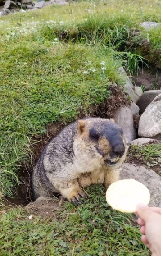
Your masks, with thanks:
[{"label": "green grass in the foreground, below the marmot and the cracker", "polygon": [[23,208],[0,218],[1,256],[147,256],[133,216],[112,210],[104,188],[86,189],[90,198],[73,206],[66,202],[57,220],[33,215]]}]

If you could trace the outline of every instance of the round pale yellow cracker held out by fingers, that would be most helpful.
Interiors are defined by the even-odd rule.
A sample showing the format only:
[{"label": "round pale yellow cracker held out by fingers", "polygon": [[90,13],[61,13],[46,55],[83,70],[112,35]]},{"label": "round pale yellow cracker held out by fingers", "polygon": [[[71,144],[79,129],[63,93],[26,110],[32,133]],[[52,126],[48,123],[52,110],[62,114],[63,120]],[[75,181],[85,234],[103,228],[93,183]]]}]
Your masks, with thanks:
[{"label": "round pale yellow cracker held out by fingers", "polygon": [[134,213],[138,204],[149,204],[150,192],[145,185],[135,179],[122,179],[109,186],[106,201],[114,210]]}]

